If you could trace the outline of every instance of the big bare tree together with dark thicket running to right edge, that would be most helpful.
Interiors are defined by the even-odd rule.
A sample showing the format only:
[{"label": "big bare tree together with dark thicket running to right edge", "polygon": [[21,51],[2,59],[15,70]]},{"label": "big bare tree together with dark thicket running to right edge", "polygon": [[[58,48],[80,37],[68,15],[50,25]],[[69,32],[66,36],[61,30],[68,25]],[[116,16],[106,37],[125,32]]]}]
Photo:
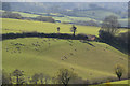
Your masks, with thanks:
[{"label": "big bare tree together with dark thicket running to right edge", "polygon": [[115,48],[130,54],[130,31],[120,32],[120,24],[118,18],[114,15],[107,16],[102,24],[101,30],[99,31],[99,37],[101,42],[105,42]]}]

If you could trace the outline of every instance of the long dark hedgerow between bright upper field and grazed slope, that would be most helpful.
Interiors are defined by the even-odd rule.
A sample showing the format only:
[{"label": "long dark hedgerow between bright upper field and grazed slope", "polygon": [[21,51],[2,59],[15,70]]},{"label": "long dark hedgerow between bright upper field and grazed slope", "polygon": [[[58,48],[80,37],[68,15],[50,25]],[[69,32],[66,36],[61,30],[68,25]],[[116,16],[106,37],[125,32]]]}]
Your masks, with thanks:
[{"label": "long dark hedgerow between bright upper field and grazed slope", "polygon": [[[56,38],[56,39],[72,39],[72,40],[88,40],[94,41],[95,35],[86,35],[86,34],[67,34],[67,33],[38,33],[38,32],[23,32],[23,33],[5,33],[2,34],[2,40],[8,39],[17,39],[17,38]],[[93,39],[94,38],[94,39]]]}]

